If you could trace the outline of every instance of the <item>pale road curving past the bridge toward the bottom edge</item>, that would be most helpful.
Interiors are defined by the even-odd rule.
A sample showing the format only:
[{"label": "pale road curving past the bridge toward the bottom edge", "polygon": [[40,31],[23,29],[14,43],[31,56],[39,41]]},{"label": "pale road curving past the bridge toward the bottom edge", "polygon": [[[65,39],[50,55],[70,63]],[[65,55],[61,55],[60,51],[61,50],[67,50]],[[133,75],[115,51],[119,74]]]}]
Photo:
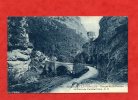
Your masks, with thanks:
[{"label": "pale road curving past the bridge toward the bottom edge", "polygon": [[97,77],[98,70],[96,68],[90,66],[86,67],[89,68],[89,71],[87,71],[81,77],[74,78],[71,81],[60,85],[59,87],[50,91],[50,93],[69,93],[69,91],[71,91],[74,86],[77,87],[78,83],[82,82],[83,80]]}]

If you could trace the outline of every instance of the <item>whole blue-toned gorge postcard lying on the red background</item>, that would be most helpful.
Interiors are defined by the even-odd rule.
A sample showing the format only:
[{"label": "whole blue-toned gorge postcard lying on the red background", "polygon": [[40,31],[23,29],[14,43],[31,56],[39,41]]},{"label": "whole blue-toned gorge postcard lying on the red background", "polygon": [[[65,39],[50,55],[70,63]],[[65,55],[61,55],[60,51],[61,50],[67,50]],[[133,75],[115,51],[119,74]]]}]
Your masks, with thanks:
[{"label": "whole blue-toned gorge postcard lying on the red background", "polygon": [[127,16],[9,16],[9,93],[128,92]]}]

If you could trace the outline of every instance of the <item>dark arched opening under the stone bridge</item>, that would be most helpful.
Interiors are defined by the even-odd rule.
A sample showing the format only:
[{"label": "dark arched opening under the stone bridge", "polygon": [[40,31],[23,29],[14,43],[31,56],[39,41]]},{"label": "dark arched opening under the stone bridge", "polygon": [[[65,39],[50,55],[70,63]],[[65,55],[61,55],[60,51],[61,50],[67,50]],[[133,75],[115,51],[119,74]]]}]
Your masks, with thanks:
[{"label": "dark arched opening under the stone bridge", "polygon": [[65,66],[59,66],[56,71],[58,76],[69,75],[69,70]]}]

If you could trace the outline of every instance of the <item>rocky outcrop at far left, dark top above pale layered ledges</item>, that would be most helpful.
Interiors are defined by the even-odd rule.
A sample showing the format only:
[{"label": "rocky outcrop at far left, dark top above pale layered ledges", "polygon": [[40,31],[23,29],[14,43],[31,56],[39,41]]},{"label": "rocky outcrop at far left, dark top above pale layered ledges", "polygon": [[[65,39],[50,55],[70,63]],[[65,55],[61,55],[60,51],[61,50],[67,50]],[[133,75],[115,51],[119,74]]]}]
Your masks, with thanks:
[{"label": "rocky outcrop at far left, dark top above pale layered ledges", "polygon": [[9,84],[19,83],[31,61],[32,45],[26,30],[26,18],[8,18],[8,78]]}]

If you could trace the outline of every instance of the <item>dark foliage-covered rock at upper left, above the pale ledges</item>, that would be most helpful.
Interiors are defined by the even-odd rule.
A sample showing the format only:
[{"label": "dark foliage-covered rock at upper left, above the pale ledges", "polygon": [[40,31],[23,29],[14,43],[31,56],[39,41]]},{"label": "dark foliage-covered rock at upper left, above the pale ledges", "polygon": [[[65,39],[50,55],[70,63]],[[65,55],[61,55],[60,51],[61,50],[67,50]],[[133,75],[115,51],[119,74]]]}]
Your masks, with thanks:
[{"label": "dark foliage-covered rock at upper left, above the pale ledges", "polygon": [[26,49],[32,46],[28,40],[28,24],[25,17],[8,18],[8,49]]}]

